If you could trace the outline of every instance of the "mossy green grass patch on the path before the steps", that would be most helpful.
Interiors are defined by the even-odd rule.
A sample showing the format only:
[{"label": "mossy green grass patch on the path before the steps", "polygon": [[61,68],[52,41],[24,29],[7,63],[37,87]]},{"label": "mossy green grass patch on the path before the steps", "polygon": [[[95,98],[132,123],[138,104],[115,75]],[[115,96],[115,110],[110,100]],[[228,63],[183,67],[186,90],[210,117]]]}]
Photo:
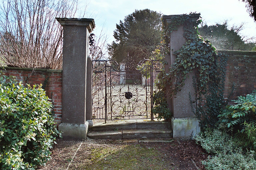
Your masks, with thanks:
[{"label": "mossy green grass patch on the path before the steps", "polygon": [[154,148],[144,145],[122,145],[116,149],[99,147],[88,155],[90,164],[79,164],[77,169],[85,170],[164,170],[170,169],[167,158]]}]

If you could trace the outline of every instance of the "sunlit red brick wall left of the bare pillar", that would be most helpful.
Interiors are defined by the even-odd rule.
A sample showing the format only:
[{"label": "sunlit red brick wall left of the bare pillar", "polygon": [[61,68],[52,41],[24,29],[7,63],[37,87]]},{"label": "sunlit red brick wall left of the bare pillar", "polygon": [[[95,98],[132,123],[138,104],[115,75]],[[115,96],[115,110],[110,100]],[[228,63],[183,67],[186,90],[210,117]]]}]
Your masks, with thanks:
[{"label": "sunlit red brick wall left of the bare pillar", "polygon": [[6,76],[16,76],[17,80],[24,84],[42,84],[46,95],[52,99],[57,126],[62,122],[62,70],[15,67],[5,67],[1,70]]}]

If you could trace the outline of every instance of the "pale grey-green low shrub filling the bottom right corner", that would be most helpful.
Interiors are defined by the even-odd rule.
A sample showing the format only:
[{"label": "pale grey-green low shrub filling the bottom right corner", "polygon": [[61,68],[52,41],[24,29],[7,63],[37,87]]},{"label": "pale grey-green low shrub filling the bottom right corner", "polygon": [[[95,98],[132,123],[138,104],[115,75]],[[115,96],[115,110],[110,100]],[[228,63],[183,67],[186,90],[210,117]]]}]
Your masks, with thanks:
[{"label": "pale grey-green low shrub filling the bottom right corner", "polygon": [[255,170],[255,152],[250,151],[243,154],[237,149],[230,154],[220,153],[203,161],[207,170]]}]

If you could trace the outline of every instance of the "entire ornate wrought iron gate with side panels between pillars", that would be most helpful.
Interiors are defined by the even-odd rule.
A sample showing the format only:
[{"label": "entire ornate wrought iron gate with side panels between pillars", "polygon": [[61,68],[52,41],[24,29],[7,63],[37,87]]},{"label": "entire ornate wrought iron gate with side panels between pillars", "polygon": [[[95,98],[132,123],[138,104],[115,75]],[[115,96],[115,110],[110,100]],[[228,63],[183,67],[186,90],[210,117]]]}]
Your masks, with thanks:
[{"label": "entire ornate wrought iron gate with side panels between pillars", "polygon": [[92,119],[151,119],[153,92],[162,64],[143,60],[136,66],[92,61]]}]

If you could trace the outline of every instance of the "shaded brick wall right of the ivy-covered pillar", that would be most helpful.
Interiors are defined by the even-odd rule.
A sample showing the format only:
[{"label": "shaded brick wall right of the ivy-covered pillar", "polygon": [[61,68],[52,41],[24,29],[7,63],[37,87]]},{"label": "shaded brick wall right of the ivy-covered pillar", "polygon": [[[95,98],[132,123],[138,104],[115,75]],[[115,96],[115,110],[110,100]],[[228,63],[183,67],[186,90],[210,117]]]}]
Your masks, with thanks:
[{"label": "shaded brick wall right of the ivy-covered pillar", "polygon": [[[256,90],[256,51],[218,50],[228,55],[224,98],[236,99]],[[233,88],[232,88],[233,86]]]}]

